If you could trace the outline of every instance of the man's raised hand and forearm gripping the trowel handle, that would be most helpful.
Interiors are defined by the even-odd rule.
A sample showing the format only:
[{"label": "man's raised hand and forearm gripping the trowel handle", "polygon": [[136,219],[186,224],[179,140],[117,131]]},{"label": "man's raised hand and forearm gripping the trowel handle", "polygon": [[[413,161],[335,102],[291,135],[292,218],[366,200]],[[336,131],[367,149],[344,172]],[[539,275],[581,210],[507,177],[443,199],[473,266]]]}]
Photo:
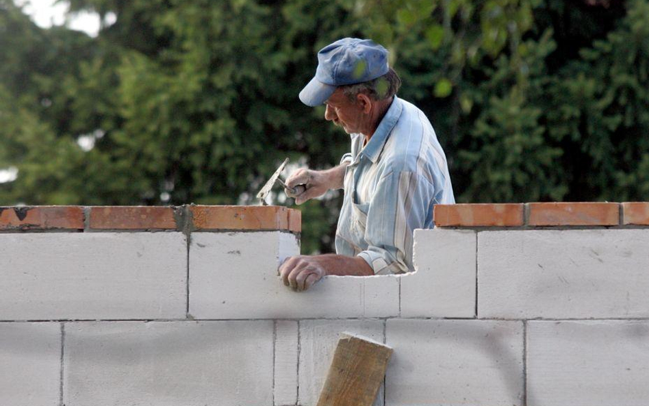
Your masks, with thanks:
[{"label": "man's raised hand and forearm gripping the trowel handle", "polygon": [[286,186],[295,188],[295,186],[304,185],[306,189],[301,194],[294,194],[288,188],[285,188],[284,192],[286,196],[295,199],[295,204],[301,205],[309,199],[322,196],[329,189],[340,189],[346,166],[343,164],[327,170],[298,169],[286,179]]}]

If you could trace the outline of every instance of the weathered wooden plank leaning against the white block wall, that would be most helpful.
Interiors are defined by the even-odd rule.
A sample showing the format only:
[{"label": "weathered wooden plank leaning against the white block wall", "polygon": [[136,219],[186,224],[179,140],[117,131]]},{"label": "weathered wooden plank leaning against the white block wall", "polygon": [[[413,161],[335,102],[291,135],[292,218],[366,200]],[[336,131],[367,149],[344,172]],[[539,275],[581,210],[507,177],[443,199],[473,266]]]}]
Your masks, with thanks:
[{"label": "weathered wooden plank leaning against the white block wall", "polygon": [[342,333],[318,406],[372,406],[390,355],[385,344]]}]

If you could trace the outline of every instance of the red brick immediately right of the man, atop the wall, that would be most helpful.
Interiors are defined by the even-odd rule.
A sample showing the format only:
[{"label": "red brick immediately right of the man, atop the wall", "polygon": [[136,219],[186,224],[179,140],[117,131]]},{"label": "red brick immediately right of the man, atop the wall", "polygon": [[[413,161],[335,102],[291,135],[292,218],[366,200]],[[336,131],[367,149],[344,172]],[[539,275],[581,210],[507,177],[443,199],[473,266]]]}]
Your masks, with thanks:
[{"label": "red brick immediately right of the man, atop the wall", "polygon": [[520,203],[473,203],[436,205],[436,227],[504,227],[523,225]]}]

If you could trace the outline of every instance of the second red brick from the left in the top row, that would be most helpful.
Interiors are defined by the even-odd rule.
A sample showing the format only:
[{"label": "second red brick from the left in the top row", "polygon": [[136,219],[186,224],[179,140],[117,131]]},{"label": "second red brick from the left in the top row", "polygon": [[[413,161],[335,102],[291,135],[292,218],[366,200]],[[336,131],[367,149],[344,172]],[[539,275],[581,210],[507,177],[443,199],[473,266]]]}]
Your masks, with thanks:
[{"label": "second red brick from the left in the top row", "polygon": [[173,207],[97,206],[90,208],[91,229],[175,229]]}]

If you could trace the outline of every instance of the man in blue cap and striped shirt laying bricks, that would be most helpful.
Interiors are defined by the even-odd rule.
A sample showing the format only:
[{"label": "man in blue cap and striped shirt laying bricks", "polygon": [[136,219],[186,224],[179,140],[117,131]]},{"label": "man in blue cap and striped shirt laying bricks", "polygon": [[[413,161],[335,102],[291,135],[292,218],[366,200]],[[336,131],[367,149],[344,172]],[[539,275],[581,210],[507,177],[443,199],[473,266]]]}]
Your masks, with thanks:
[{"label": "man in blue cap and striped shirt laying bricks", "polygon": [[344,189],[336,254],[290,257],[279,267],[286,286],[306,290],[324,275],[377,275],[413,270],[413,230],[433,227],[433,205],[455,203],[446,157],[429,120],[396,97],[401,81],[387,50],[344,38],[318,52],[316,76],[300,92],[309,106],[351,136],[351,153],[328,170],[296,170],[301,204]]}]

